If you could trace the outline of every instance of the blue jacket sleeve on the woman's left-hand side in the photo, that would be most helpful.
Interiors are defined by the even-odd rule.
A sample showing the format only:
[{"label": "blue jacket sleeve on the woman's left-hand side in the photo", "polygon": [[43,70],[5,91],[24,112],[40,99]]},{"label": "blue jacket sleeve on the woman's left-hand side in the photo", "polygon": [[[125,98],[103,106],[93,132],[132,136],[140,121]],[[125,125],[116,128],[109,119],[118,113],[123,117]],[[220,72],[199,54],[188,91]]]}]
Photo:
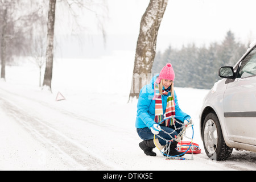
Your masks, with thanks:
[{"label": "blue jacket sleeve on the woman's left-hand side in the photo", "polygon": [[141,120],[150,128],[155,121],[148,114],[148,109],[152,102],[152,96],[147,92],[147,88],[144,87],[139,94],[138,104],[137,104],[137,115]]}]

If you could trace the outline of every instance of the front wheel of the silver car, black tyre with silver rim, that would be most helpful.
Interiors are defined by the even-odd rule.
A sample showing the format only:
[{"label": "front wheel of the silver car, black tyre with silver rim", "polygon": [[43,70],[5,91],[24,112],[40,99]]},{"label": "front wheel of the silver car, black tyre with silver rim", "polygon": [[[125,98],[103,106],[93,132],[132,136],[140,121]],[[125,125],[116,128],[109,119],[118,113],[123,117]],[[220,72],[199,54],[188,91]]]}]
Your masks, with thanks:
[{"label": "front wheel of the silver car, black tyre with silver rim", "polygon": [[207,156],[212,160],[226,160],[232,154],[233,148],[226,145],[215,113],[207,114],[204,119],[203,143]]}]

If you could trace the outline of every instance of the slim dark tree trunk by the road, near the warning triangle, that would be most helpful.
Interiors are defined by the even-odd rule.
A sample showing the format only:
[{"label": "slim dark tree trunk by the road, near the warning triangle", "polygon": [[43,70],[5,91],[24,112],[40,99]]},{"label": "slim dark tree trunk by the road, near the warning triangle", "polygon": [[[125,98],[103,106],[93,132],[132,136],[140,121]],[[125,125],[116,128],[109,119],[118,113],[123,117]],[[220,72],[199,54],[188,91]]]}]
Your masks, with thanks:
[{"label": "slim dark tree trunk by the road, near the warning triangle", "polygon": [[56,0],[49,1],[48,23],[47,23],[47,50],[46,50],[46,72],[44,73],[43,86],[48,86],[51,90],[52,68],[53,68],[53,38],[55,24]]}]

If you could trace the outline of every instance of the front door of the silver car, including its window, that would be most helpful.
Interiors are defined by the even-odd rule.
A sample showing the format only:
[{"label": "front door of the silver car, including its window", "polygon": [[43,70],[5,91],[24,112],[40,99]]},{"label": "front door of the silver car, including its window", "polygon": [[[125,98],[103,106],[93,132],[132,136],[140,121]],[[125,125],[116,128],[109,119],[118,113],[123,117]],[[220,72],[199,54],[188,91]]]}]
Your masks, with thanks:
[{"label": "front door of the silver car, including its window", "polygon": [[256,48],[240,62],[236,79],[227,83],[223,104],[229,139],[256,145]]}]

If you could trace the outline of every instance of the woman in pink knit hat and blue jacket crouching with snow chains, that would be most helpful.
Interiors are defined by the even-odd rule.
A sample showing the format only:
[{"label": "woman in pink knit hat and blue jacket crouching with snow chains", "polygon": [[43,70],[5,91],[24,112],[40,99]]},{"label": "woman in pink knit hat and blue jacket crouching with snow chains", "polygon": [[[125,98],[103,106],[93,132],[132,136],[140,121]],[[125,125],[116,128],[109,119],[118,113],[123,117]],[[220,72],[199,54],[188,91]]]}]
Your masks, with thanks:
[{"label": "woman in pink knit hat and blue jacket crouching with snow chains", "polygon": [[[157,146],[162,150],[167,144],[166,140],[170,141],[176,138],[182,130],[180,123],[184,123],[184,120],[185,122],[187,120],[192,122],[191,117],[181,111],[179,107],[174,91],[174,78],[174,69],[170,63],[167,63],[160,74],[153,77],[150,84],[144,86],[139,93],[135,126],[137,127],[139,137],[143,139],[139,143],[139,147],[141,147],[146,155],[156,156],[156,153],[152,151],[153,148]],[[171,119],[171,117],[175,116],[175,119],[180,123],[173,122],[174,119]],[[163,121],[164,118],[170,119]],[[161,124],[158,125],[158,123]],[[170,133],[171,137],[164,133],[162,129]],[[154,142],[154,135],[158,135],[163,139],[156,136]],[[176,156],[182,154],[175,149],[177,143],[177,139],[171,141],[168,155]]]}]

